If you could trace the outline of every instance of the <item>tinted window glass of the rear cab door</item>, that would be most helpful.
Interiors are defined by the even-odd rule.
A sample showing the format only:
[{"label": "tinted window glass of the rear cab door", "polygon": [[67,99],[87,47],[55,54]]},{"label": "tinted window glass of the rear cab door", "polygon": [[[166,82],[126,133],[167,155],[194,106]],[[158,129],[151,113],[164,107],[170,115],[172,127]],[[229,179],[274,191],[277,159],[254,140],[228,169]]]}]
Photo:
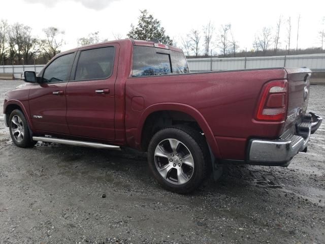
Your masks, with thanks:
[{"label": "tinted window glass of the rear cab door", "polygon": [[114,47],[102,47],[80,52],[75,80],[106,79],[114,67]]}]

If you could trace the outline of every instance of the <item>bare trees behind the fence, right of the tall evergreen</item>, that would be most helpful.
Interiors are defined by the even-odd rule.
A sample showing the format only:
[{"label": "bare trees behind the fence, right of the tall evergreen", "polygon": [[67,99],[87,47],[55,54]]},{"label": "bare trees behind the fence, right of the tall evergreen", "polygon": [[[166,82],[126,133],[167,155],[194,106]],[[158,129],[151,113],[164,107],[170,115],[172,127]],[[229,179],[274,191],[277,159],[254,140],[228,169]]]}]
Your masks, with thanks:
[{"label": "bare trees behind the fence, right of the tall evergreen", "polygon": [[[300,21],[301,16],[299,15],[297,33],[293,33],[291,17],[285,19],[280,15],[275,26],[263,27],[256,32],[252,42],[253,48],[248,51],[246,49],[240,50],[240,43],[234,35],[231,23],[221,24],[216,28],[210,21],[203,25],[202,29],[191,29],[185,37],[182,37],[181,47],[188,57],[272,56],[323,52],[325,17],[322,20],[322,29],[318,33],[320,47],[299,48]],[[296,38],[295,47],[293,47],[294,38]]]}]

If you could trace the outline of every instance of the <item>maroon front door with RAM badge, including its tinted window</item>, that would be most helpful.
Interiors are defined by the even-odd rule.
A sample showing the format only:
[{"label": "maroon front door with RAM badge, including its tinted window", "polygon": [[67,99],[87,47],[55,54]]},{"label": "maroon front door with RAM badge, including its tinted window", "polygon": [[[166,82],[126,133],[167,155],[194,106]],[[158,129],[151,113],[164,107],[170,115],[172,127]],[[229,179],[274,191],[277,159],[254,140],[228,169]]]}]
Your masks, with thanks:
[{"label": "maroon front door with RAM badge, including its tinted window", "polygon": [[29,112],[37,131],[69,134],[66,87],[75,52],[55,58],[44,70],[42,82],[29,90]]}]

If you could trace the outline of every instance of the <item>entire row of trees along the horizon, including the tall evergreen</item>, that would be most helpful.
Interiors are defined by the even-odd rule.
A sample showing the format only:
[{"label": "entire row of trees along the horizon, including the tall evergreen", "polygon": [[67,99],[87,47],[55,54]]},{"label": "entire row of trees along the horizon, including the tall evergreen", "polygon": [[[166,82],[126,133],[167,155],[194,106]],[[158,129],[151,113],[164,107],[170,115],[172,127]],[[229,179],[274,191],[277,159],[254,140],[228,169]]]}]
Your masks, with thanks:
[{"label": "entire row of trees along the horizon, including the tall evergreen", "polygon": [[[325,41],[325,17],[322,19],[322,29],[318,33],[320,47],[299,48],[299,26],[301,17],[297,20],[297,33],[293,33],[293,19],[279,16],[275,25],[263,27],[258,31],[252,42],[252,49],[240,49],[240,43],[233,31],[231,23],[214,26],[211,21],[202,28],[191,29],[179,40],[172,39],[166,34],[161,22],[141,10],[138,24],[131,24],[128,38],[150,41],[158,39],[161,43],[179,46],[188,57],[236,57],[236,56],[262,56],[262,55],[288,55],[323,52]],[[8,21],[0,22],[0,65],[45,64],[61,51],[65,44],[64,32],[57,27],[43,29],[44,38],[32,36],[31,27]],[[283,33],[285,32],[285,35]],[[121,34],[114,34],[115,39],[122,39]],[[293,39],[296,46],[293,47]],[[95,44],[107,39],[101,39],[99,32],[90,33],[86,37],[77,39],[77,46]],[[285,48],[284,45],[285,44]],[[282,47],[282,48],[281,48]]]}]

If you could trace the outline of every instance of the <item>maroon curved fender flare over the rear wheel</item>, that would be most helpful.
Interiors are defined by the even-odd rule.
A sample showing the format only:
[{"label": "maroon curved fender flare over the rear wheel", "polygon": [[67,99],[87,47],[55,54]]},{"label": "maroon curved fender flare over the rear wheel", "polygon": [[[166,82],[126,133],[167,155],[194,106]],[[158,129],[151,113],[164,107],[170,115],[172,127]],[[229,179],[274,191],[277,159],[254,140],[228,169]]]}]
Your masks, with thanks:
[{"label": "maroon curved fender flare over the rear wheel", "polygon": [[203,130],[203,133],[207,139],[207,142],[216,158],[221,158],[219,147],[217,145],[217,141],[213,135],[213,132],[208,125],[207,121],[203,117],[203,115],[196,109],[193,108],[187,104],[182,104],[182,103],[159,103],[159,104],[153,104],[147,107],[144,112],[141,114],[139,123],[138,123],[138,132],[136,136],[136,143],[138,145],[141,144],[142,140],[142,130],[144,123],[147,119],[147,117],[153,113],[153,112],[158,112],[158,111],[163,111],[163,110],[172,110],[172,111],[178,111],[178,112],[183,112],[186,113],[190,116],[192,116],[197,123],[199,124],[200,128]]}]

